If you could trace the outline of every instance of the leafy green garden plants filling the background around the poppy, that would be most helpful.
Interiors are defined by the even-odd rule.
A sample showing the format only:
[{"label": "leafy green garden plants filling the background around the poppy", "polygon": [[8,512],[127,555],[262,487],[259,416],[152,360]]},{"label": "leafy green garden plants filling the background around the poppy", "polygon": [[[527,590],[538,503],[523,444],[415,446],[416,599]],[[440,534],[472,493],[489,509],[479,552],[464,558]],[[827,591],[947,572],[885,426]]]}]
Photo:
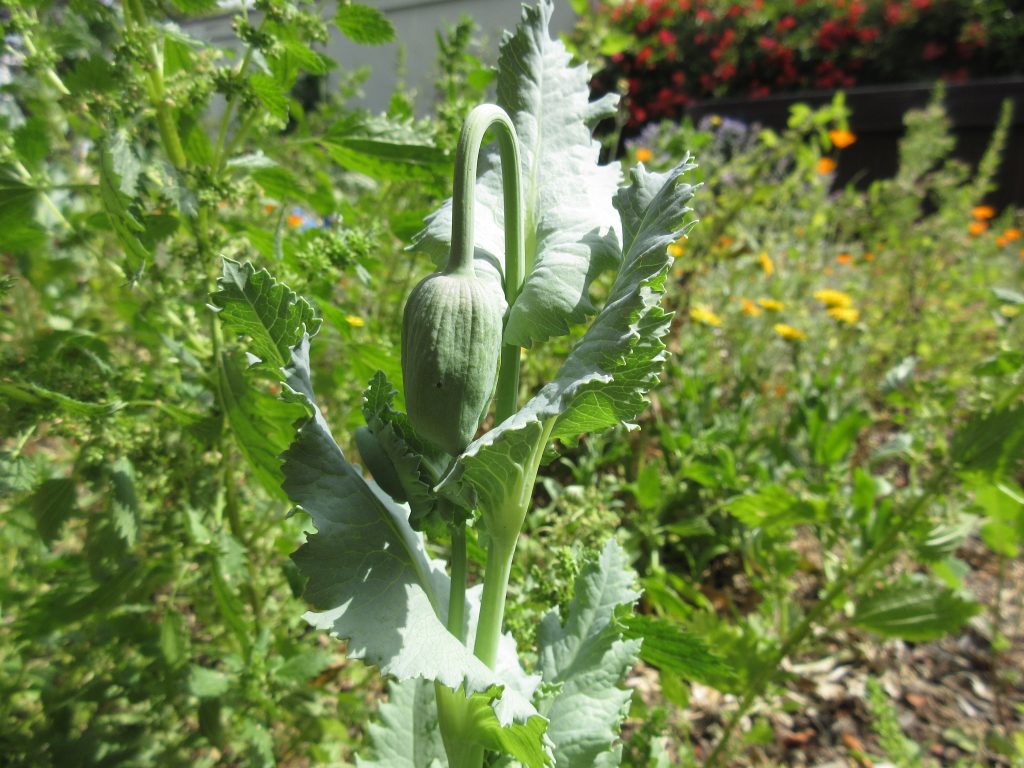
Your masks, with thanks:
[{"label": "leafy green garden plants filling the background around the poppy", "polygon": [[[288,327],[319,329],[312,384],[354,455],[361,392],[378,370],[400,382],[401,300],[432,268],[403,249],[483,83],[462,31],[442,120],[401,94],[382,117],[303,110],[289,92],[334,66],[327,28],[260,10],[228,58],[148,3],[4,6],[11,765],[344,765],[369,759],[367,713],[388,717],[385,682],[302,618],[289,553],[308,526],[278,460],[302,407],[248,366],[258,329],[209,305],[273,295],[263,267],[308,299]],[[359,13],[362,42],[388,37],[369,10],[336,27]],[[625,765],[1024,759],[1024,217],[985,205],[1006,121],[965,167],[938,91],[899,173],[855,191],[831,185],[846,117],[840,99],[785,131],[655,126],[623,159],[699,163],[700,221],[668,250],[671,356],[640,430],[548,452],[506,626],[529,647],[615,534],[637,626],[674,628],[628,681]],[[610,281],[592,290],[600,305]],[[524,395],[581,333],[524,359]]]}]

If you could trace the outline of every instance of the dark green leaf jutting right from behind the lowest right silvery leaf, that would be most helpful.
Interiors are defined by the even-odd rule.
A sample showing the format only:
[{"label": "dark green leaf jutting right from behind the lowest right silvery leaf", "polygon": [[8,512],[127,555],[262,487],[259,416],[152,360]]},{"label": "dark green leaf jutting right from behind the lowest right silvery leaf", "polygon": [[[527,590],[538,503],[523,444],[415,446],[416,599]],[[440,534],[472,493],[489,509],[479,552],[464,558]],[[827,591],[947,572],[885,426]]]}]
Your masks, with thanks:
[{"label": "dark green leaf jutting right from behind the lowest right silvery leaf", "polygon": [[643,641],[640,658],[663,673],[707,685],[721,685],[732,670],[698,638],[665,618],[630,615],[620,620],[628,638]]}]

